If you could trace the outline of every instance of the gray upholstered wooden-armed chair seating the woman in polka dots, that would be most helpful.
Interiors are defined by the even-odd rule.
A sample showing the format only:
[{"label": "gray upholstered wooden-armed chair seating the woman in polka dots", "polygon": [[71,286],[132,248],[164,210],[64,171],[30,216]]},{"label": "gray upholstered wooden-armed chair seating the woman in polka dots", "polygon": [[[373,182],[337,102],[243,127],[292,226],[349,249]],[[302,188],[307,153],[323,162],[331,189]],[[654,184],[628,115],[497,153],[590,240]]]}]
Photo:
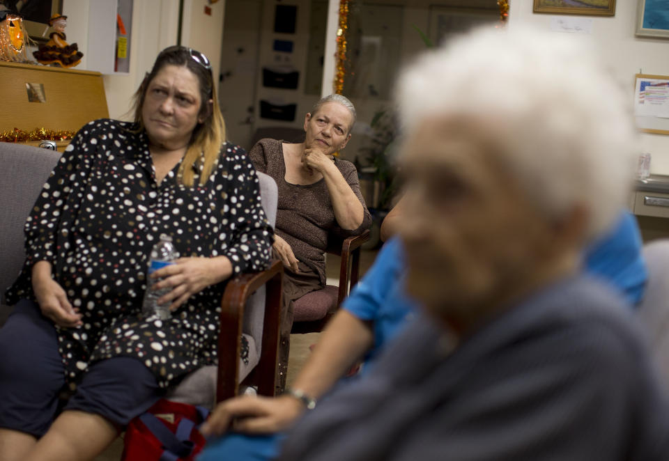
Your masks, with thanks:
[{"label": "gray upholstered wooden-armed chair seating the woman in polka dots", "polygon": [[[0,143],[0,326],[11,307],[4,292],[22,267],[23,227],[49,172],[60,153],[15,143]],[[259,173],[263,208],[273,225],[277,214],[277,185]],[[283,267],[272,261],[263,272],[242,274],[229,281],[221,299],[219,364],[191,373],[167,398],[213,407],[230,398],[240,384],[273,396],[277,373],[279,312]],[[249,358],[240,359],[241,337],[249,344]]]}]

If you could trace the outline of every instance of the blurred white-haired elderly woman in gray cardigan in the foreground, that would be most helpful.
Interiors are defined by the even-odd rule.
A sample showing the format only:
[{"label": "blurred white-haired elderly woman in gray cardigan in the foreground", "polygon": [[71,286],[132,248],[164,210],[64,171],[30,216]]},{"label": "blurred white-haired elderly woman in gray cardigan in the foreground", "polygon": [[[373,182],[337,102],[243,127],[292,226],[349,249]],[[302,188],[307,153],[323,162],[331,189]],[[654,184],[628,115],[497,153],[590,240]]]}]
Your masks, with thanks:
[{"label": "blurred white-haired elderly woman in gray cardigan in the foreground", "polygon": [[403,73],[400,235],[425,313],[279,460],[669,459],[643,329],[579,268],[638,152],[629,97],[595,63],[583,40],[516,26]]}]

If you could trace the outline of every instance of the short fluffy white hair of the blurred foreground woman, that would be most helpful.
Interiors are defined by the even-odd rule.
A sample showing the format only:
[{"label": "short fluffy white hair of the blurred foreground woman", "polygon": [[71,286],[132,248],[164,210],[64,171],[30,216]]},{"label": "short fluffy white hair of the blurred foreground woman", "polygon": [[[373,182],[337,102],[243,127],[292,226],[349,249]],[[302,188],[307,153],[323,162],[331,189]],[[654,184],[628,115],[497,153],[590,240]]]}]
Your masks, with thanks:
[{"label": "short fluffy white hair of the blurred foreground woman", "polygon": [[587,235],[613,225],[631,193],[638,139],[631,98],[569,34],[478,29],[418,58],[397,86],[406,134],[433,118],[501,132],[495,150],[549,219],[587,209]]}]

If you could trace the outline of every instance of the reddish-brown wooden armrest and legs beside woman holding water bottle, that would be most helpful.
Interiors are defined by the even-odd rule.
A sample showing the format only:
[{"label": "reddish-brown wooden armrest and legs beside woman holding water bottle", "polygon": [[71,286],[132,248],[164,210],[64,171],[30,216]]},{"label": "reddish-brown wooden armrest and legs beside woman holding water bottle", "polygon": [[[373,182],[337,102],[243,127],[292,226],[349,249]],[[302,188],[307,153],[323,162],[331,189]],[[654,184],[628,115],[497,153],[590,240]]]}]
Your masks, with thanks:
[{"label": "reddish-brown wooden armrest and legs beside woman holding water bottle", "polygon": [[[284,270],[281,261],[272,260],[268,269],[261,272],[240,274],[228,282],[221,299],[216,385],[217,402],[232,398],[233,396],[236,396],[239,391],[240,338],[242,335],[244,309],[249,296],[263,285],[267,285],[267,289],[265,295],[265,318],[263,322],[261,362],[263,362],[263,364],[266,364],[267,361],[271,362],[273,351],[274,367],[276,368],[283,274]],[[269,355],[269,358],[265,358],[267,357],[267,354]],[[261,366],[261,363],[259,363],[256,368],[259,366]],[[266,377],[266,373],[263,373],[263,377]],[[267,392],[267,388],[268,386],[263,386],[263,391]],[[271,392],[273,395],[273,383]]]}]

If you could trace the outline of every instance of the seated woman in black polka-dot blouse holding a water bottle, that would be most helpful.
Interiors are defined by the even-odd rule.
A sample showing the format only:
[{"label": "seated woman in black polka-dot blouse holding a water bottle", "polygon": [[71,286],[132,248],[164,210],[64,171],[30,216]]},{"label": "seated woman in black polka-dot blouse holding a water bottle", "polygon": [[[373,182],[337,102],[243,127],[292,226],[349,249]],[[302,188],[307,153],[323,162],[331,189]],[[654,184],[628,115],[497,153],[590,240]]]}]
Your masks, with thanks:
[{"label": "seated woman in black polka-dot blouse holding a water bottle", "polygon": [[[135,108],[134,123],[79,131],[26,223],[0,330],[3,461],[93,459],[167,386],[217,361],[222,282],[270,258],[259,182],[224,142],[206,56],[164,49]],[[147,277],[161,234],[183,257]],[[171,318],[141,316],[147,286],[167,288]],[[63,386],[73,395],[56,417]]]}]

